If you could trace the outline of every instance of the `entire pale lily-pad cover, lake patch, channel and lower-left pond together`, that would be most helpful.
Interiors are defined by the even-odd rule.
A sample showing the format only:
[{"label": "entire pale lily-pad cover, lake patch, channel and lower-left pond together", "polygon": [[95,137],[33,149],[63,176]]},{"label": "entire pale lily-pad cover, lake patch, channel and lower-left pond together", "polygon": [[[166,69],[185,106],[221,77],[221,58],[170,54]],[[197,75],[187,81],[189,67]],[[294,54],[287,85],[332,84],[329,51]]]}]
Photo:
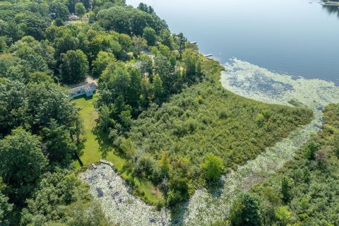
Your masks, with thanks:
[{"label": "entire pale lily-pad cover, lake patch, channel and lower-left pond together", "polygon": [[[213,192],[206,189],[196,190],[187,203],[177,207],[179,213],[172,216],[167,213],[167,222],[172,222],[172,225],[208,225],[215,220],[227,218],[230,204],[237,194],[241,191],[249,191],[253,184],[281,169],[288,160],[292,159],[295,152],[309,141],[311,135],[320,130],[323,124],[321,109],[329,103],[339,102],[339,88],[334,83],[304,78],[295,79],[237,59],[225,66],[220,81],[227,90],[255,100],[283,105],[290,105],[291,100],[294,100],[294,103],[313,109],[314,119],[310,124],[292,132],[283,141],[266,148],[266,151],[254,160],[249,160],[246,165],[222,177],[223,186],[220,190]],[[103,169],[102,174],[93,173],[91,176],[93,181],[90,182],[88,178],[93,170],[89,169],[81,177],[91,185],[90,192],[95,196],[98,194],[97,187],[104,188],[103,196],[100,198],[102,206],[107,215],[112,218],[118,216],[122,220],[121,225],[150,225],[150,218],[165,219],[162,218],[163,212],[156,212],[152,207],[128,194],[126,184],[112,172],[112,169],[109,171]],[[102,169],[98,167],[98,170]],[[112,186],[109,184],[115,184],[114,188],[106,190]],[[128,199],[130,203],[125,202],[125,207],[119,209],[121,204],[116,204],[117,199],[109,197],[113,197],[114,192],[121,191],[124,196],[129,197],[124,200]],[[139,216],[139,213],[142,216]],[[139,221],[130,220],[131,218]],[[156,220],[155,225],[160,222]]]}]

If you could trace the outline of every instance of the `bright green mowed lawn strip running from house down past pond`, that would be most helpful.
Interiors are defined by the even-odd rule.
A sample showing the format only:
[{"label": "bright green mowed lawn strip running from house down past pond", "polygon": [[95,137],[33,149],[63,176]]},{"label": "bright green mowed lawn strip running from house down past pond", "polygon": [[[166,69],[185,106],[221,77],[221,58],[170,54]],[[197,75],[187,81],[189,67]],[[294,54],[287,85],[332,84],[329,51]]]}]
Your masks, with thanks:
[{"label": "bright green mowed lawn strip running from house down past pond", "polygon": [[[114,164],[114,169],[117,172],[120,172],[120,175],[125,180],[133,180],[133,189],[136,189],[136,194],[140,194],[143,201],[156,205],[158,201],[163,201],[162,194],[153,184],[149,181],[133,177],[131,174],[124,172],[124,166],[127,164],[126,160],[122,157],[119,157],[115,150],[109,150],[105,157],[102,156],[100,151],[100,143],[97,141],[97,136],[93,133],[93,128],[95,127],[95,119],[97,119],[98,114],[94,107],[94,102],[96,95],[92,98],[80,97],[74,102],[76,107],[80,107],[80,117],[83,123],[83,136],[85,142],[83,143],[83,150],[80,156],[81,162],[83,165],[90,165],[94,162],[98,162],[100,159],[108,160]],[[80,165],[76,167],[80,169]]]}]

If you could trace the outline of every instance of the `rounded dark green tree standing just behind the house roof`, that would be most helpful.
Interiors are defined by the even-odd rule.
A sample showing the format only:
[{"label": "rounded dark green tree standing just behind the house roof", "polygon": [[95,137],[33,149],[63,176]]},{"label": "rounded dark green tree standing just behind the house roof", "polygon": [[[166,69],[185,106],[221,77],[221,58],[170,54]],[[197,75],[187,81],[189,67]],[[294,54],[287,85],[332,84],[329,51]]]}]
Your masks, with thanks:
[{"label": "rounded dark green tree standing just behind the house roof", "polygon": [[88,71],[86,55],[79,49],[69,50],[61,55],[61,79],[64,83],[78,83],[84,81]]}]

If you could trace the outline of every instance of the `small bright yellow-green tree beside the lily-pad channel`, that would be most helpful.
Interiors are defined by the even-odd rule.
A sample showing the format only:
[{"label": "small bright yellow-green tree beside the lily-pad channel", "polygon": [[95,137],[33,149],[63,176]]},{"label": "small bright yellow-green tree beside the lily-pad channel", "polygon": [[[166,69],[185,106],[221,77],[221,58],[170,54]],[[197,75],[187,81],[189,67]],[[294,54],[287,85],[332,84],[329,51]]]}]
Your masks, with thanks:
[{"label": "small bright yellow-green tree beside the lily-pad channel", "polygon": [[217,181],[223,169],[222,159],[212,153],[206,155],[201,166],[204,176],[208,181]]}]

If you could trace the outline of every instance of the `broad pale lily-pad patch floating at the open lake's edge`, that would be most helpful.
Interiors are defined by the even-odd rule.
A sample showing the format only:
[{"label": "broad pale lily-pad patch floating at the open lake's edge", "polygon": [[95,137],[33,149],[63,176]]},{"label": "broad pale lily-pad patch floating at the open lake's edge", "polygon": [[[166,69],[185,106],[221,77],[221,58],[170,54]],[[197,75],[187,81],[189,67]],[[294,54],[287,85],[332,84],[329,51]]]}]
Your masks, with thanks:
[{"label": "broad pale lily-pad patch floating at the open lake's edge", "polygon": [[220,82],[238,95],[268,103],[289,105],[297,100],[311,109],[339,102],[339,88],[321,79],[293,78],[239,59],[225,64]]}]

